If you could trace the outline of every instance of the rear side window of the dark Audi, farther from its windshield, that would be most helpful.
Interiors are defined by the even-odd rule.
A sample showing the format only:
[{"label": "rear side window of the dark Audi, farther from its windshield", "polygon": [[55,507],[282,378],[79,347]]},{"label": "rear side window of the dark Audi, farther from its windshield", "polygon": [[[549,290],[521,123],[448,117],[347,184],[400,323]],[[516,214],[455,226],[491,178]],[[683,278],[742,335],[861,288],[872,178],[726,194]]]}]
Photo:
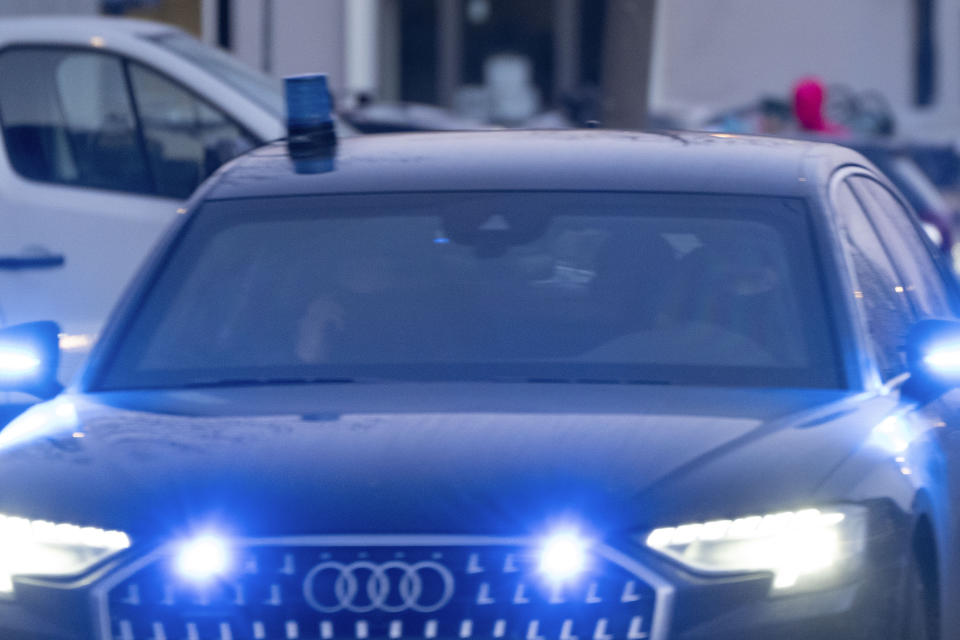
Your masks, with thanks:
[{"label": "rear side window of the dark Audi, farther from its windshield", "polygon": [[850,183],[876,224],[919,315],[950,315],[947,287],[919,235],[922,231],[910,220],[912,214],[880,183],[867,177],[851,178]]}]

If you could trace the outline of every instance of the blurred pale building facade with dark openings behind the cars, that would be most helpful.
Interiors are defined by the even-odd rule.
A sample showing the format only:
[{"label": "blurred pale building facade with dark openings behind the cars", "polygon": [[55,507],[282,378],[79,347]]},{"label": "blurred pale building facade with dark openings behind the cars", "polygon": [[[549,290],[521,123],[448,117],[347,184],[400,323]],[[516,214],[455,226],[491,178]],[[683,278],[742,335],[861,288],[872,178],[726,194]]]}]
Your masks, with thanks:
[{"label": "blurred pale building facade with dark openings behind the cars", "polygon": [[[4,0],[0,13],[177,24],[341,100],[497,124],[698,126],[816,75],[831,107],[960,134],[960,0]],[[841,98],[846,102],[841,101]],[[854,122],[862,113],[842,113]]]}]

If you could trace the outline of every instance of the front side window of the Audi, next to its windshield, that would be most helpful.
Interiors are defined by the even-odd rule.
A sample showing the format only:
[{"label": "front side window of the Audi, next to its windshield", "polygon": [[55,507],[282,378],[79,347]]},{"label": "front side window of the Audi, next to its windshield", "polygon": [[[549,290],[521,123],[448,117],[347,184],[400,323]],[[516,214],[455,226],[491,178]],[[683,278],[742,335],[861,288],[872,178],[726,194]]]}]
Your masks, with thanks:
[{"label": "front side window of the Audi, next to its windshield", "polygon": [[913,313],[880,238],[846,183],[837,189],[834,204],[855,276],[853,296],[864,311],[880,375],[889,380],[906,370],[901,347],[913,323]]}]

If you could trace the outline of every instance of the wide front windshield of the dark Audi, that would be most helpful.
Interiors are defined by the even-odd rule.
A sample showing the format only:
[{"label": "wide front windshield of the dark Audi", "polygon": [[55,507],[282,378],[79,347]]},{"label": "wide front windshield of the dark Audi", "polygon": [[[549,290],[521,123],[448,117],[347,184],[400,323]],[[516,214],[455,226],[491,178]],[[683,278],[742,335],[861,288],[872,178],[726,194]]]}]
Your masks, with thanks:
[{"label": "wide front windshield of the dark Audi", "polygon": [[100,389],[444,380],[839,385],[802,201],[212,201]]}]

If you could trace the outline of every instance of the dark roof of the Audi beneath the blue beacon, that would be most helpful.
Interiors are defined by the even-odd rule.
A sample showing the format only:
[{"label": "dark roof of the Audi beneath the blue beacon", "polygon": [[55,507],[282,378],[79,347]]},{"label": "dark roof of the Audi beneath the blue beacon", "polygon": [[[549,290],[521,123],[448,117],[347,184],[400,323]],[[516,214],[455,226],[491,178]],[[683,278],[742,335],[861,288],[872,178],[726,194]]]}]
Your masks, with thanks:
[{"label": "dark roof of the Audi beneath the blue beacon", "polygon": [[834,167],[866,161],[849,149],[798,140],[588,129],[360,136],[341,139],[327,164],[295,163],[285,143],[274,143],[223,167],[200,197],[473,190],[806,195],[808,183],[822,182]]}]

